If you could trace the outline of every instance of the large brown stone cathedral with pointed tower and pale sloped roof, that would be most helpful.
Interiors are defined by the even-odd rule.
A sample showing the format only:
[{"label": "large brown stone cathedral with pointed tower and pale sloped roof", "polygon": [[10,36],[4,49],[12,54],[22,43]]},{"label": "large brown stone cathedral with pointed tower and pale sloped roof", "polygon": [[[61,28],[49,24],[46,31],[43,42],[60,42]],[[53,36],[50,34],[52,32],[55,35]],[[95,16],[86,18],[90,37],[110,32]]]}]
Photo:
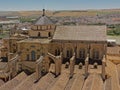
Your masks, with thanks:
[{"label": "large brown stone cathedral with pointed tower and pale sloped roof", "polygon": [[[106,55],[105,25],[56,26],[45,15],[45,10],[31,26],[28,36],[8,39],[14,45],[7,44],[6,48],[10,53],[20,53],[20,61],[33,63],[40,56],[46,56],[48,52],[55,56],[59,56],[62,52],[62,63],[69,62],[75,53],[76,64],[80,62],[84,64],[87,55],[89,55],[90,64],[95,62],[102,64],[103,56]],[[1,53],[3,53],[2,58],[7,57],[7,50]]]}]

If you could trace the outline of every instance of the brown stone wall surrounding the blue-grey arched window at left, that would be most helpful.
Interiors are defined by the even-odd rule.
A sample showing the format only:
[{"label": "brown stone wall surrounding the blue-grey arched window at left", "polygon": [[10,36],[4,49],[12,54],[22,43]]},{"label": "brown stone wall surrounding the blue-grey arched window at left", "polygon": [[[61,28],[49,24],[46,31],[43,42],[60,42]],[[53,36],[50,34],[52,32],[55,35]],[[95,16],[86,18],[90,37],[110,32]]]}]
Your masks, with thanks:
[{"label": "brown stone wall surrounding the blue-grey arched window at left", "polygon": [[19,43],[18,47],[19,47],[18,52],[21,53],[20,59],[22,61],[24,60],[32,61],[31,59],[32,51],[35,52],[35,60],[37,60],[40,57],[40,55],[46,55],[48,52],[48,44],[24,42],[24,43]]}]

